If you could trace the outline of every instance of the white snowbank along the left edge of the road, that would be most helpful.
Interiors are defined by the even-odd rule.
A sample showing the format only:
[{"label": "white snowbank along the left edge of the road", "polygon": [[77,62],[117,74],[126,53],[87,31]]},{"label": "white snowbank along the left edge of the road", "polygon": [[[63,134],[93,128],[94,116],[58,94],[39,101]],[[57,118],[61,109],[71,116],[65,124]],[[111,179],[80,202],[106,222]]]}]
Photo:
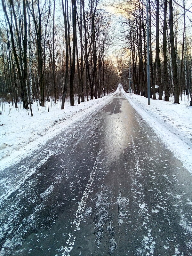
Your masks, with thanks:
[{"label": "white snowbank along the left edge of the road", "polygon": [[30,116],[30,110],[20,107],[15,109],[11,104],[1,103],[0,168],[4,169],[20,157],[30,154],[38,144],[44,143],[77,119],[104,105],[114,94],[115,92],[75,106],[66,102],[64,110],[58,109],[58,104],[50,103],[49,112],[47,107],[41,107],[39,111],[39,106],[35,103],[32,104],[33,117]]}]

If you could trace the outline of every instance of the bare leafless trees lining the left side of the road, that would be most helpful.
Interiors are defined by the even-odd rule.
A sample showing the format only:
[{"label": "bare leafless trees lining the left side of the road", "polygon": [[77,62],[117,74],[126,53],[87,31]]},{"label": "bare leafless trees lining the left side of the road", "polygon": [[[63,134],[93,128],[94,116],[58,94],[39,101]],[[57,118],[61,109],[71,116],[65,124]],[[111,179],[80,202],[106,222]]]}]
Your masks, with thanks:
[{"label": "bare leafless trees lining the left side of the road", "polygon": [[[78,103],[116,90],[108,57],[111,15],[99,0],[2,0],[0,98],[23,108],[39,100]],[[32,110],[31,110],[32,115]]]}]

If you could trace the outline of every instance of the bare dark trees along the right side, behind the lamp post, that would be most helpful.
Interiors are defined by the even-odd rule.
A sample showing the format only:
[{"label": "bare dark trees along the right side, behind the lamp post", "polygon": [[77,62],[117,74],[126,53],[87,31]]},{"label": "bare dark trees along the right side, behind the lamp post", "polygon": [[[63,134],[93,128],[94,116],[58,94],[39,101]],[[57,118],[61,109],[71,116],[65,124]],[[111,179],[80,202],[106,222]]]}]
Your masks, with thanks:
[{"label": "bare dark trees along the right side, behind the lamp post", "polygon": [[149,8],[150,97],[179,103],[187,96],[192,106],[192,3],[187,0],[115,1],[123,38],[122,54],[116,54],[121,83],[129,90],[129,63],[132,90],[148,97],[147,13]]}]

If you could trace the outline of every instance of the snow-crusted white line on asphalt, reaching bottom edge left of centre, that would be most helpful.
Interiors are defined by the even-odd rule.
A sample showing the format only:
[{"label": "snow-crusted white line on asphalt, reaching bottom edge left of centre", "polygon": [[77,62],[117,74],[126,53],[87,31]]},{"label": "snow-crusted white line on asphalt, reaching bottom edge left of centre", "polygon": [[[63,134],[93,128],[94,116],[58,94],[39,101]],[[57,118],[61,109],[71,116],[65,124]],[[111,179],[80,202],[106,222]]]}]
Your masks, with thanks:
[{"label": "snow-crusted white line on asphalt, reaching bottom edge left of centre", "polygon": [[81,198],[81,202],[79,203],[78,209],[75,214],[75,219],[73,220],[73,223],[72,223],[73,226],[71,226],[71,228],[73,229],[73,233],[71,233],[71,232],[68,233],[69,238],[66,241],[67,246],[65,246],[65,248],[64,248],[65,251],[61,254],[62,256],[69,256],[69,252],[71,252],[71,250],[73,249],[73,245],[76,240],[75,234],[76,234],[77,230],[80,230],[79,226],[83,219],[83,212],[85,209],[85,205],[87,203],[87,199],[91,192],[91,186],[92,186],[92,183],[93,183],[93,180],[95,177],[95,172],[96,172],[99,160],[100,160],[101,152],[102,152],[102,150],[100,149],[100,151],[98,152],[98,155],[95,159],[95,162],[93,164],[92,171],[89,176],[89,180],[87,181],[87,185],[85,187],[83,196]]}]

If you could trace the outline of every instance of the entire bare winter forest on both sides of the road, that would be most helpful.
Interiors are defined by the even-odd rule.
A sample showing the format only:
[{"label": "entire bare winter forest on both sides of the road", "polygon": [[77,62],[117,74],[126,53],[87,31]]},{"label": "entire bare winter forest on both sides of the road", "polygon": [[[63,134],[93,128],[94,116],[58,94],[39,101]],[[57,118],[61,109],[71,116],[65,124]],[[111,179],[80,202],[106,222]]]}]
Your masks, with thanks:
[{"label": "entire bare winter forest on both sides of the road", "polygon": [[[101,0],[100,0],[101,1]],[[146,1],[1,0],[0,99],[31,111],[51,100],[75,105],[114,92],[119,83],[147,92]],[[192,24],[186,1],[148,0],[152,99],[192,106]],[[109,8],[109,10],[110,10]],[[121,29],[116,30],[117,23]],[[114,54],[111,48],[121,45]],[[121,49],[120,49],[121,48]],[[131,66],[131,78],[129,77]],[[158,97],[157,97],[158,94]],[[48,106],[48,104],[47,104]]]}]

